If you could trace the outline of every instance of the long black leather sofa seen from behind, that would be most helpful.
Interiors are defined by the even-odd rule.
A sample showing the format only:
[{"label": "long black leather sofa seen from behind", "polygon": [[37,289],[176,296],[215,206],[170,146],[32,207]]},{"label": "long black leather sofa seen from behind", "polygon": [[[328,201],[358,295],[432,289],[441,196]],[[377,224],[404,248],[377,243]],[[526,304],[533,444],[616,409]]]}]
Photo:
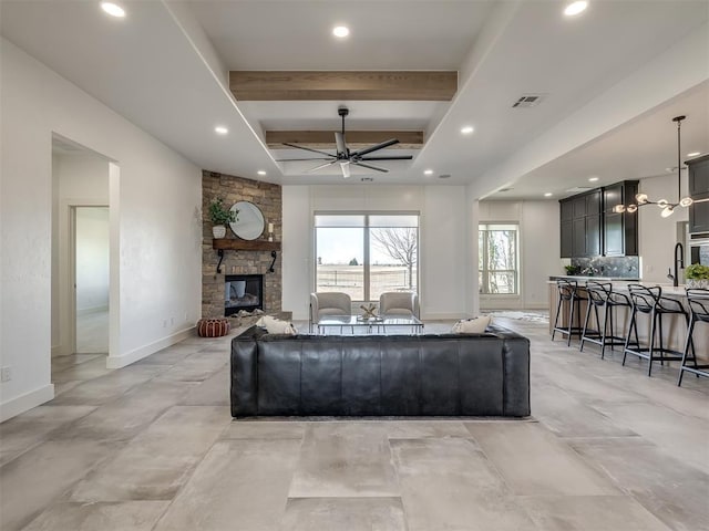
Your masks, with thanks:
[{"label": "long black leather sofa seen from behind", "polygon": [[232,416],[530,415],[530,340],[484,334],[232,341]]}]

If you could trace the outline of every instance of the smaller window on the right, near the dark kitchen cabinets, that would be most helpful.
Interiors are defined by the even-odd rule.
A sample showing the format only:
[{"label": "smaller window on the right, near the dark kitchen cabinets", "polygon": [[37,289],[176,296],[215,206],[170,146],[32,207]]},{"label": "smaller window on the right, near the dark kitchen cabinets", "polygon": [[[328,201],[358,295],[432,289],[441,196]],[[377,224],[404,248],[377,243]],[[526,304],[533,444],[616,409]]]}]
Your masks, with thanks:
[{"label": "smaller window on the right, near the dark kitchen cabinets", "polygon": [[516,225],[481,223],[477,230],[477,281],[481,293],[517,294]]}]

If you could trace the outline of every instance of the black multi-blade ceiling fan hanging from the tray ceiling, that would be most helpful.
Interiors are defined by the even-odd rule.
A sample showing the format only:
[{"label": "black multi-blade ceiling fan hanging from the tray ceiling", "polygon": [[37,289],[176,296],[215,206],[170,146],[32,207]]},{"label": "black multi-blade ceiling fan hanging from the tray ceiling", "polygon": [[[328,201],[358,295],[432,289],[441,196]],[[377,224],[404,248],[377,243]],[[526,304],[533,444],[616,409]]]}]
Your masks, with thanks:
[{"label": "black multi-blade ceiling fan hanging from the tray ceiling", "polygon": [[371,164],[366,164],[370,160],[411,160],[413,156],[411,155],[392,155],[387,157],[370,157],[368,156],[372,152],[378,152],[379,149],[383,149],[389,146],[393,146],[394,144],[399,144],[397,138],[392,138],[390,140],[382,142],[380,144],[366,147],[364,149],[360,149],[358,152],[350,152],[347,147],[347,143],[345,142],[345,116],[350,114],[349,108],[339,107],[337,110],[337,114],[342,118],[342,131],[335,132],[335,145],[337,148],[336,154],[321,152],[320,149],[311,149],[309,147],[299,146],[297,144],[289,144],[284,142],[284,146],[295,147],[297,149],[305,149],[306,152],[317,153],[322,155],[321,157],[315,158],[281,158],[276,160],[277,163],[287,163],[295,160],[327,160],[326,163],[316,166],[312,169],[309,169],[308,173],[317,171],[318,169],[327,168],[328,166],[332,166],[333,164],[339,164],[340,169],[342,170],[342,177],[348,178],[350,176],[350,165],[361,166],[362,168],[373,169],[376,171],[388,173],[387,168],[381,168],[379,166],[372,166]]}]

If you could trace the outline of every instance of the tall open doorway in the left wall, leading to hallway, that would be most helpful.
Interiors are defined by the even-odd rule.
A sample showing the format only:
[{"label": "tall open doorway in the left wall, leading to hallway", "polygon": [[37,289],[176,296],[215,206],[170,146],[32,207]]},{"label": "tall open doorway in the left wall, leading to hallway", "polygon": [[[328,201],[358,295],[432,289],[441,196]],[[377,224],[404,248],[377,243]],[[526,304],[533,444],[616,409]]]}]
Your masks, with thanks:
[{"label": "tall open doorway in the left wall, leading to hallway", "polygon": [[[110,183],[116,173],[113,167],[115,164],[106,157],[52,134],[54,383],[75,379],[74,369],[81,363],[105,366],[111,353],[110,331],[113,333],[115,326],[111,319],[117,302],[116,252],[112,247],[117,218],[109,208]],[[116,294],[109,296],[110,290]]]}]

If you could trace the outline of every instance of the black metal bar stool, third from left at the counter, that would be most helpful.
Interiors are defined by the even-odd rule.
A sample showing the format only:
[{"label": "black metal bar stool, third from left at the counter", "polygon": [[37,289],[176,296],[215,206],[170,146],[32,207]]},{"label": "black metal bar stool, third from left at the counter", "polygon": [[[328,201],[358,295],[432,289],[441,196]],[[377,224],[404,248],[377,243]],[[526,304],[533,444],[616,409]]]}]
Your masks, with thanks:
[{"label": "black metal bar stool, third from left at the counter", "polygon": [[[625,347],[623,350],[623,365],[628,354],[633,354],[638,357],[643,357],[648,361],[647,375],[653,373],[653,362],[660,361],[660,365],[665,365],[666,361],[681,361],[684,353],[679,351],[672,351],[664,345],[662,334],[662,315],[666,314],[680,314],[685,315],[687,325],[689,326],[689,314],[682,306],[682,303],[675,299],[668,299],[662,296],[662,288],[655,285],[653,288],[646,288],[640,284],[628,284],[628,291],[630,292],[630,301],[633,302],[633,311],[630,313],[630,326],[628,329],[628,336],[626,337]],[[635,339],[638,337],[638,313],[645,313],[650,319],[650,333],[649,333],[649,346],[640,347],[639,343],[635,350],[629,348],[630,333],[635,330]],[[659,346],[655,346],[655,336],[659,332],[658,343]],[[691,339],[690,339],[691,342]],[[693,345],[692,345],[693,350]],[[659,356],[656,356],[659,353]],[[667,355],[666,355],[667,354]]]}]

